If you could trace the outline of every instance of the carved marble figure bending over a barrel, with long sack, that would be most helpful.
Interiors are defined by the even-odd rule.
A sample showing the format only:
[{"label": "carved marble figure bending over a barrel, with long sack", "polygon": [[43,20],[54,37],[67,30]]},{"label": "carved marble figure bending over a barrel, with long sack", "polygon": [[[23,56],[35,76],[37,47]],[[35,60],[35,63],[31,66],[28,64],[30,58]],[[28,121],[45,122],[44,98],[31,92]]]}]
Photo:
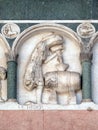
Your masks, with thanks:
[{"label": "carved marble figure bending over a barrel, with long sack", "polygon": [[75,91],[80,89],[80,74],[68,72],[69,65],[63,63],[63,42],[62,36],[50,33],[32,53],[24,83],[29,91],[37,88],[37,103],[51,103],[50,99],[58,103],[59,93],[74,97]]}]

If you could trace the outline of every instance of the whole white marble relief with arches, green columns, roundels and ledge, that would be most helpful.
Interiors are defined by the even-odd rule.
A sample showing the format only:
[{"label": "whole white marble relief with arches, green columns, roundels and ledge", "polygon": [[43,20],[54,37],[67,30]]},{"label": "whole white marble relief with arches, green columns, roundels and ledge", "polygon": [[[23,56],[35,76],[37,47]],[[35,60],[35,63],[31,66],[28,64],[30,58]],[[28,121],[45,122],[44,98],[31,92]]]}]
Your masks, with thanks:
[{"label": "whole white marble relief with arches, green columns, roundels and ledge", "polygon": [[[53,23],[22,33],[16,24],[2,30],[0,109],[98,109],[98,32],[93,24],[84,22],[77,32]],[[16,38],[12,48],[4,37]]]}]

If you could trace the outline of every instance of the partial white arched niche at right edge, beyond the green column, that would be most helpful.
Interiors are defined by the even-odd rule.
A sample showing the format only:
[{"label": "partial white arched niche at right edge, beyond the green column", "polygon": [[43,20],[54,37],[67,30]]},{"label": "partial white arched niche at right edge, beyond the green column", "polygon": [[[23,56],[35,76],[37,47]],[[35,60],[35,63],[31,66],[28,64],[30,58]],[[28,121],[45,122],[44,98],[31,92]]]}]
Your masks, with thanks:
[{"label": "partial white arched niche at right edge, beyond the green column", "polygon": [[91,68],[92,100],[95,104],[98,104],[98,32],[92,37],[90,44],[93,53]]}]

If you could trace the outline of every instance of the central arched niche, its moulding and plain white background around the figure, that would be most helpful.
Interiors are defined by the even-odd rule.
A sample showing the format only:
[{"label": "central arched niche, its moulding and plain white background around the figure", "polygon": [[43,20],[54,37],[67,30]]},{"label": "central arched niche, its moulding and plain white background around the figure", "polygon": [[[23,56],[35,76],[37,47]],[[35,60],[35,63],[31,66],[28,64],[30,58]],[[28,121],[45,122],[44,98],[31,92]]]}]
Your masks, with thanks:
[{"label": "central arched niche, its moulding and plain white background around the figure", "polygon": [[36,90],[27,91],[24,88],[24,73],[32,51],[36,45],[49,33],[60,35],[64,39],[64,63],[69,64],[69,71],[81,74],[81,63],[79,59],[81,51],[81,40],[77,34],[59,24],[37,24],[24,30],[15,40],[12,51],[18,55],[17,66],[17,100],[20,104],[27,101],[36,102]]}]

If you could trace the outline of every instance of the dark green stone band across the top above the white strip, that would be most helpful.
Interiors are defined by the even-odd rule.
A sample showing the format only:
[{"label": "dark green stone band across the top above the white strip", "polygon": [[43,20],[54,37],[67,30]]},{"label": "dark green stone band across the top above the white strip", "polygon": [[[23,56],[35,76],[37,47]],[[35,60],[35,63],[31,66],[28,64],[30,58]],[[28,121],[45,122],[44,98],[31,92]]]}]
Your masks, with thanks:
[{"label": "dark green stone band across the top above the white strip", "polygon": [[98,0],[0,0],[0,19],[98,19]]}]

